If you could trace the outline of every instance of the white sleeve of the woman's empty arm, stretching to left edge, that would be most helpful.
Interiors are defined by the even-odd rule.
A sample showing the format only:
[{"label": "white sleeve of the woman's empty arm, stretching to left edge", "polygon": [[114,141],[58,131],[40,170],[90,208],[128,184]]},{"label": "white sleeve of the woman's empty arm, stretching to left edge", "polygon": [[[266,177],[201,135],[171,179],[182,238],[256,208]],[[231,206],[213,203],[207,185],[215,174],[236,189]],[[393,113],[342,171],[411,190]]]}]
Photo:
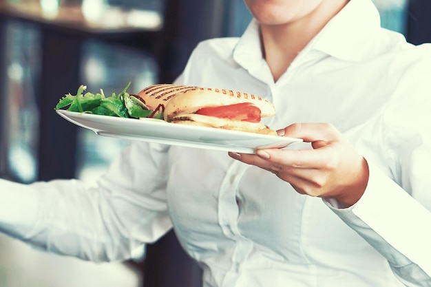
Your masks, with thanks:
[{"label": "white sleeve of the woman's empty arm, stretching to left edge", "polygon": [[96,186],[78,180],[0,180],[0,231],[47,251],[94,262],[129,259],[171,228],[167,150],[134,142]]}]

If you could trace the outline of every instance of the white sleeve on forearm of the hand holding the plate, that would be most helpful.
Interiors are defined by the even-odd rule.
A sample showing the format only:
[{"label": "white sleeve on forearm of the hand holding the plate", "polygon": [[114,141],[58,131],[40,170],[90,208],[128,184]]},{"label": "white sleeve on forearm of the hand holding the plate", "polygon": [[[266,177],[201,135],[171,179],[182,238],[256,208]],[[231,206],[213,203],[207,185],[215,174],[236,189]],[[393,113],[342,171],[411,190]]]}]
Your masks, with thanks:
[{"label": "white sleeve on forearm of the hand holding the plate", "polygon": [[431,213],[369,162],[370,178],[361,200],[331,209],[388,259],[406,286],[431,282]]}]

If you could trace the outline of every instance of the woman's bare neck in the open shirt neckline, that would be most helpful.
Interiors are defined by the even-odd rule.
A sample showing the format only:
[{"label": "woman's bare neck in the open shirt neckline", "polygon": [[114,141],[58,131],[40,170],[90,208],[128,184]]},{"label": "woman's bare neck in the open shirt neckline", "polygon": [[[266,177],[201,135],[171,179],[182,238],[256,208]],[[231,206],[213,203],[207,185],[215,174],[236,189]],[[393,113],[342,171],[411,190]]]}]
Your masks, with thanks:
[{"label": "woman's bare neck in the open shirt neckline", "polygon": [[260,24],[264,58],[277,81],[297,54],[324,28],[348,0],[323,1],[313,12],[282,25]]}]

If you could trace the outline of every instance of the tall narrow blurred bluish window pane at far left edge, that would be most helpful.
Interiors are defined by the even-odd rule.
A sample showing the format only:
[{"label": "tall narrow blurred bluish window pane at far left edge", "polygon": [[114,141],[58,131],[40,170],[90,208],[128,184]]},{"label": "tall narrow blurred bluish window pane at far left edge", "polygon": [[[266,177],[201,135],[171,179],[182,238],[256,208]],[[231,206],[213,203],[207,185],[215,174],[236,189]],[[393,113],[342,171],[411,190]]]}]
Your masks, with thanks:
[{"label": "tall narrow blurred bluish window pane at far left edge", "polygon": [[[6,25],[6,83],[1,89],[0,150],[6,156],[1,176],[19,182],[37,177],[39,134],[38,99],[35,97],[39,67],[39,32],[32,25],[12,22]],[[3,55],[1,55],[3,56]],[[3,154],[1,155],[3,156]]]}]

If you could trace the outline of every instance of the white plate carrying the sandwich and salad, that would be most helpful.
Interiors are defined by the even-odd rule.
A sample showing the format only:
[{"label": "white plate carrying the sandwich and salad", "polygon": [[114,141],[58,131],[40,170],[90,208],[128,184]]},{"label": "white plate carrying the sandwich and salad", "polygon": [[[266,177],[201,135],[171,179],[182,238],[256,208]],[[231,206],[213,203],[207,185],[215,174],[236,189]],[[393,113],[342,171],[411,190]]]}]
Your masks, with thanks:
[{"label": "white plate carrying the sandwich and salad", "polygon": [[180,125],[151,118],[117,118],[83,114],[75,111],[56,111],[66,120],[91,129],[100,136],[144,140],[167,145],[198,147],[238,153],[254,153],[256,149],[282,148],[292,142],[301,142],[299,138],[267,136],[243,131],[229,131],[211,127]]}]

